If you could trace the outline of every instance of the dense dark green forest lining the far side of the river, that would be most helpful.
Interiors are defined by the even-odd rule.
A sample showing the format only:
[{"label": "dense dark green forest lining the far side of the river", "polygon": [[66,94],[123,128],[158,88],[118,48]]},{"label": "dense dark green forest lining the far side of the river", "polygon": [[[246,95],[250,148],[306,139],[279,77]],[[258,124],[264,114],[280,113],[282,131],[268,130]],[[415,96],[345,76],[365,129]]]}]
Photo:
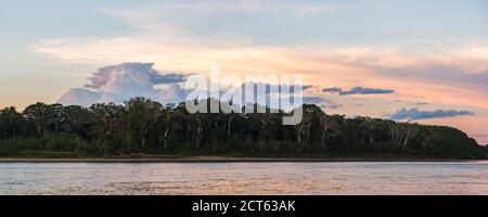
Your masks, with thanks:
[{"label": "dense dark green forest lining the far side of the river", "polygon": [[291,115],[283,111],[190,114],[184,102],[144,98],[90,107],[36,103],[22,113],[5,107],[0,156],[488,157],[486,146],[455,128],[300,108],[303,122],[293,126],[282,125]]}]

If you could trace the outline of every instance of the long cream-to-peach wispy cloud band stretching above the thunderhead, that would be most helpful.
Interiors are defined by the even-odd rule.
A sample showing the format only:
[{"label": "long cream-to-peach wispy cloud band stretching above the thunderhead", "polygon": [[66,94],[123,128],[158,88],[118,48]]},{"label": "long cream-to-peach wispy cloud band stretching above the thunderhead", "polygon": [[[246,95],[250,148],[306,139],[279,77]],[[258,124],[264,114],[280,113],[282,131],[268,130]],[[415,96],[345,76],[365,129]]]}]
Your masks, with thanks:
[{"label": "long cream-to-peach wispy cloud band stretching above the thunderhead", "polygon": [[[400,54],[401,52],[387,52],[380,55],[382,48],[378,48],[377,53],[371,52],[370,58],[364,59],[358,56],[369,55],[368,53],[346,52],[349,50],[347,48],[344,48],[344,52],[338,52],[338,49],[326,47],[219,46],[206,40],[168,40],[157,36],[49,39],[39,41],[31,48],[35,52],[75,63],[108,65],[137,60],[156,63],[155,67],[164,71],[204,75],[211,65],[219,65],[222,72],[237,76],[248,73],[300,73],[305,76],[305,81],[314,86],[395,87],[396,97],[403,95],[402,99],[408,101],[428,98],[424,100],[432,103],[468,104],[488,108],[488,101],[486,101],[488,98],[486,75],[488,74],[471,71],[471,67],[463,68],[463,64],[455,65],[465,59],[448,61],[450,59],[446,58],[445,60],[450,63],[442,67],[429,67],[428,65],[439,63],[432,62],[428,58],[419,61],[419,65],[414,63],[391,65],[386,61],[388,62],[386,65],[376,63],[373,66],[367,62],[382,62],[394,55],[410,58]],[[432,54],[434,55],[437,59],[442,56],[437,53]],[[337,92],[337,89],[326,91]],[[344,91],[343,94],[356,92],[358,95],[359,92],[368,92],[368,90],[359,89],[341,89],[341,91]]]}]

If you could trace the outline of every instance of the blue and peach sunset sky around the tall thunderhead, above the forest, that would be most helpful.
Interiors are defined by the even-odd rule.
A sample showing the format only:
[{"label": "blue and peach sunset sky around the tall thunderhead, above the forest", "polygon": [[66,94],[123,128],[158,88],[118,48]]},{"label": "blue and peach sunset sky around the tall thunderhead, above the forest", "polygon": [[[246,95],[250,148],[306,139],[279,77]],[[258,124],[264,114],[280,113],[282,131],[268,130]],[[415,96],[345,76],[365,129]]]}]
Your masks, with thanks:
[{"label": "blue and peach sunset sky around the tall thunderhead, above the forest", "polygon": [[486,144],[487,23],[487,0],[4,0],[0,106],[54,103],[125,62],[154,63],[147,75],[218,65],[300,74],[329,114],[448,125]]}]

